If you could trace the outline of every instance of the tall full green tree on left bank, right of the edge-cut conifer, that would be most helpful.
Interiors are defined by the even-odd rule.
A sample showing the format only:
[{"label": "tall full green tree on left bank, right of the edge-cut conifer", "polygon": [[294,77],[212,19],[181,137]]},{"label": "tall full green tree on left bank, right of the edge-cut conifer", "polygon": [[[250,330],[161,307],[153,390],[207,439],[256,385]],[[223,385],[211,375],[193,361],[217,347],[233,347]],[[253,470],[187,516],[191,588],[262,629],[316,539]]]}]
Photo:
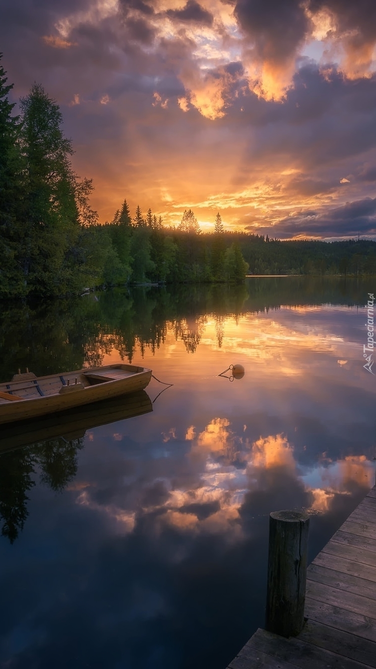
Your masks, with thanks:
[{"label": "tall full green tree on left bank, right of the edge-cut conifer", "polygon": [[21,142],[26,161],[25,282],[38,294],[62,294],[77,276],[72,253],[80,225],[71,141],[61,131],[58,104],[34,84],[21,99]]}]

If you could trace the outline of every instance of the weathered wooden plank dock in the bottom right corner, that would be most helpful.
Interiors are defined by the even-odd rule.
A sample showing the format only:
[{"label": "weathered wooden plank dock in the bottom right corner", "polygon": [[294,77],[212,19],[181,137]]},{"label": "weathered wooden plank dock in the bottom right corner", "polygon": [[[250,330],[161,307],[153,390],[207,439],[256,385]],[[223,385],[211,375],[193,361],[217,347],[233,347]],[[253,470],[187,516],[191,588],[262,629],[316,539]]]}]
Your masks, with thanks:
[{"label": "weathered wooden plank dock in the bottom right corner", "polygon": [[376,486],[307,569],[297,637],[257,630],[227,669],[376,668]]}]

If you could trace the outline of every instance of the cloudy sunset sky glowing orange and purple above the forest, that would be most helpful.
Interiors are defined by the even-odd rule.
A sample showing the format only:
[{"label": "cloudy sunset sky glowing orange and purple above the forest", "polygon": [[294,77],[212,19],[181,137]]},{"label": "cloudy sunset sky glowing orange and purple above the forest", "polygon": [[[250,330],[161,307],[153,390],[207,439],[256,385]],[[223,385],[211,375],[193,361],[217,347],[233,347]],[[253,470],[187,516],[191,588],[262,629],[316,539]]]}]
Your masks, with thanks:
[{"label": "cloudy sunset sky glowing orange and purple above the forest", "polygon": [[375,0],[1,0],[14,101],[63,114],[100,222],[376,238]]}]

